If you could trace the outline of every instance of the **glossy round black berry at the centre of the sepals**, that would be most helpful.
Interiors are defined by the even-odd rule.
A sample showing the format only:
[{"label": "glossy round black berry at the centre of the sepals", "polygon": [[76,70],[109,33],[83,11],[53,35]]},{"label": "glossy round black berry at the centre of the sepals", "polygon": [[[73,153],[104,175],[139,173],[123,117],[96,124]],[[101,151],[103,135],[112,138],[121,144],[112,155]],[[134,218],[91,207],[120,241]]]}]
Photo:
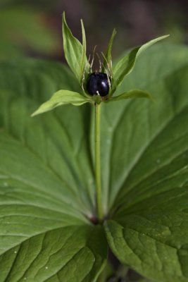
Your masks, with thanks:
[{"label": "glossy round black berry at the centre of the sepals", "polygon": [[89,75],[86,89],[90,95],[97,94],[97,92],[99,92],[100,96],[108,95],[109,85],[106,73],[92,73]]}]

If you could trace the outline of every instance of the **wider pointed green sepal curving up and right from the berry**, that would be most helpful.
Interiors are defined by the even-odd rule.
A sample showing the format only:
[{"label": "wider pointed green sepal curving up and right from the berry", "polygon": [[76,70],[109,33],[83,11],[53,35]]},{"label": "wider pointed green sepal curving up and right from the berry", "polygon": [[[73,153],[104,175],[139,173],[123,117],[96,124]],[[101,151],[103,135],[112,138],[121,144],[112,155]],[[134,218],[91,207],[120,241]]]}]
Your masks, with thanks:
[{"label": "wider pointed green sepal curving up and right from the berry", "polygon": [[[138,56],[145,51],[147,48],[151,47],[151,45],[155,44],[158,41],[161,41],[168,37],[169,35],[164,35],[161,37],[158,37],[156,39],[152,39],[151,41],[147,42],[146,44],[135,47],[130,51],[129,54],[123,56],[120,61],[118,61],[115,66],[113,67],[113,75],[115,80],[115,86],[120,85],[121,82],[123,82],[123,79],[126,75],[130,74],[134,68],[134,64],[137,61]],[[157,54],[156,54],[157,56]],[[154,68],[155,66],[153,66]]]}]

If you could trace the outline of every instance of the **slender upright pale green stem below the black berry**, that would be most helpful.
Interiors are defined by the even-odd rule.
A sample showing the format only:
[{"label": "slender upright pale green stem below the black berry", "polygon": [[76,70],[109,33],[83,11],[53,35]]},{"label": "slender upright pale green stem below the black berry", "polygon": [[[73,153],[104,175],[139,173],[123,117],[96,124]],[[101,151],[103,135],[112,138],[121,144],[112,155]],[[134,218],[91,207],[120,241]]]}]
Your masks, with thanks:
[{"label": "slender upright pale green stem below the black berry", "polygon": [[99,221],[103,219],[101,203],[101,104],[95,105],[95,182],[96,210]]}]

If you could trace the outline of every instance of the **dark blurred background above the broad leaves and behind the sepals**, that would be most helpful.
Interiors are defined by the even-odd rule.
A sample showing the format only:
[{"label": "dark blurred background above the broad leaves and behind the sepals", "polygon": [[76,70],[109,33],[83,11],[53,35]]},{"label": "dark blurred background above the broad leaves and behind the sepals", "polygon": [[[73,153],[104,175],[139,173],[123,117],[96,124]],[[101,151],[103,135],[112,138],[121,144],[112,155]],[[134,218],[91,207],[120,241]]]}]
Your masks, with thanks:
[{"label": "dark blurred background above the broad leaves and behind the sepals", "polygon": [[118,30],[113,56],[153,37],[188,42],[185,0],[0,0],[0,59],[33,56],[63,60],[61,18],[65,11],[73,34],[87,34],[87,54],[104,51],[113,27]]}]

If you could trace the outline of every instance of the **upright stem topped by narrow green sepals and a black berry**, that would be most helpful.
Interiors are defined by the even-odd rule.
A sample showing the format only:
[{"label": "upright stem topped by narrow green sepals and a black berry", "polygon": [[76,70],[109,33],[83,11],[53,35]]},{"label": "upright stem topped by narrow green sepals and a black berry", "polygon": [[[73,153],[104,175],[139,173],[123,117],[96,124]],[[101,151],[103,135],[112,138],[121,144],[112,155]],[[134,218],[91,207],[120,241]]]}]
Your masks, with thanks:
[{"label": "upright stem topped by narrow green sepals and a black berry", "polygon": [[[32,116],[42,114],[45,111],[51,111],[56,106],[63,104],[73,104],[80,106],[87,102],[94,104],[95,106],[95,173],[96,173],[96,208],[97,216],[99,221],[104,219],[104,212],[102,211],[101,204],[101,160],[100,160],[100,112],[101,102],[115,102],[121,99],[130,98],[149,98],[151,95],[148,92],[142,90],[130,90],[122,94],[113,97],[118,85],[123,81],[126,75],[132,72],[134,64],[139,54],[147,49],[152,44],[165,39],[168,35],[158,37],[144,44],[143,46],[136,47],[130,51],[123,59],[118,61],[113,67],[111,59],[111,48],[113,44],[113,38],[115,37],[116,31],[113,30],[106,55],[103,55],[104,61],[100,63],[100,71],[93,73],[92,63],[89,64],[86,56],[86,38],[84,32],[84,25],[82,25],[82,44],[72,35],[66,20],[65,13],[63,13],[63,47],[65,52],[65,59],[68,62],[71,70],[75,74],[80,86],[82,87],[82,93],[70,92],[68,90],[59,90],[56,92],[48,102],[42,104],[42,106],[35,111]],[[101,71],[104,73],[101,73]]]}]

